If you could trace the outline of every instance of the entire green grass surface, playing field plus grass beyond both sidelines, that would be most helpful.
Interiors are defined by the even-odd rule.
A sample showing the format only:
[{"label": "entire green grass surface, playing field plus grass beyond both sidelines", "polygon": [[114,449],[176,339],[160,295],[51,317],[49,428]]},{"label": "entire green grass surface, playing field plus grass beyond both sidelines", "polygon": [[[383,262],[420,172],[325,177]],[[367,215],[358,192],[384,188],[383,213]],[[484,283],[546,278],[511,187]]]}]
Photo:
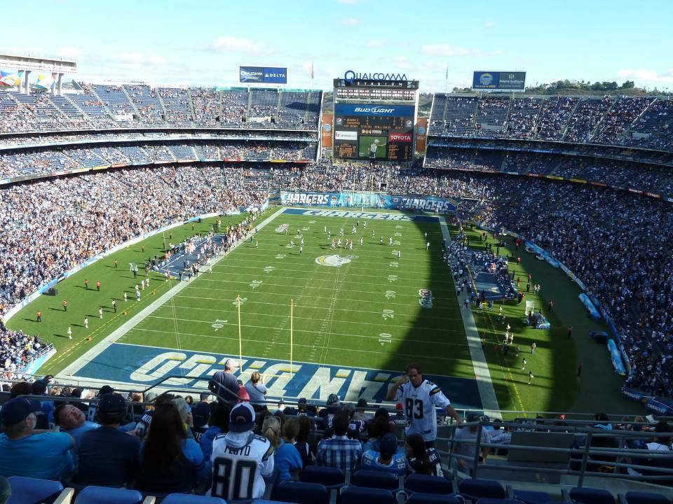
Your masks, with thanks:
[{"label": "entire green grass surface, playing field plus grass beyond both sidelines", "polygon": [[[271,214],[267,211],[257,224]],[[244,217],[225,218],[224,223]],[[129,373],[156,353],[173,350],[191,355],[202,370],[212,372],[215,367],[204,365],[196,353],[238,356],[240,296],[244,360],[332,365],[332,371],[336,370],[332,375],[337,377],[341,367],[400,372],[416,362],[428,374],[452,377],[444,384],[456,402],[479,404],[461,308],[449,268],[440,257],[439,221],[367,219],[366,228],[364,219],[359,226],[357,221],[280,214],[261,228],[254,241],[240,244],[219,260],[212,273],[203,272],[181,283],[165,281],[158,272],[150,272],[151,287],[142,291],[137,302],[133,290],[136,280],[124,266],[161,254],[163,236],[156,235],[60,282],[57,297],[39,297],[14,316],[8,327],[21,328],[55,344],[58,352],[43,365],[42,373],[57,374],[76,363],[83,372],[75,372],[75,376],[128,381]],[[177,226],[166,239],[175,243],[195,232],[207,232],[212,222]],[[344,238],[353,239],[352,251],[330,248],[325,229],[338,238],[341,228]],[[425,233],[430,251],[426,251]],[[476,231],[468,235],[470,246],[482,246],[477,244]],[[393,238],[393,246],[388,244],[389,238]],[[300,253],[301,239],[304,246]],[[397,251],[401,258],[397,258]],[[510,253],[514,260],[512,247]],[[114,259],[120,267],[114,267]],[[533,281],[543,283],[541,295],[529,297],[550,318],[552,329],[525,328],[522,307],[513,303],[505,304],[503,320],[495,312],[473,310],[501,409],[637,411],[639,405],[620,398],[622,379],[611,373],[605,349],[586,338],[587,330],[604,326],[587,318],[576,297],[578,288],[559,270],[529,255],[524,255],[522,265],[515,269],[519,270],[517,276],[525,279],[530,272]],[[88,289],[83,286],[84,279],[89,280]],[[96,280],[102,283],[100,292],[93,287]],[[177,286],[179,289],[173,290]],[[127,302],[123,301],[124,291]],[[168,297],[169,291],[174,293],[172,297]],[[162,295],[167,298],[159,302]],[[551,297],[556,304],[554,313],[546,309]],[[118,304],[117,312],[111,307],[111,298]],[[62,299],[69,301],[67,312],[62,311]],[[102,319],[97,316],[98,307],[104,310]],[[43,312],[41,323],[34,321],[37,309]],[[143,309],[149,311],[140,321],[130,323]],[[86,315],[88,329],[82,323]],[[97,345],[127,323],[130,328],[122,330],[114,348],[98,352]],[[517,334],[516,344],[522,350],[518,358],[498,351],[507,323]],[[565,337],[568,325],[575,328],[576,337],[571,341]],[[65,337],[68,326],[73,339]],[[533,341],[537,344],[535,355],[529,353]],[[522,356],[527,360],[525,370]],[[578,362],[584,363],[581,383],[575,376]],[[535,373],[531,385],[527,383],[529,370]]]}]

